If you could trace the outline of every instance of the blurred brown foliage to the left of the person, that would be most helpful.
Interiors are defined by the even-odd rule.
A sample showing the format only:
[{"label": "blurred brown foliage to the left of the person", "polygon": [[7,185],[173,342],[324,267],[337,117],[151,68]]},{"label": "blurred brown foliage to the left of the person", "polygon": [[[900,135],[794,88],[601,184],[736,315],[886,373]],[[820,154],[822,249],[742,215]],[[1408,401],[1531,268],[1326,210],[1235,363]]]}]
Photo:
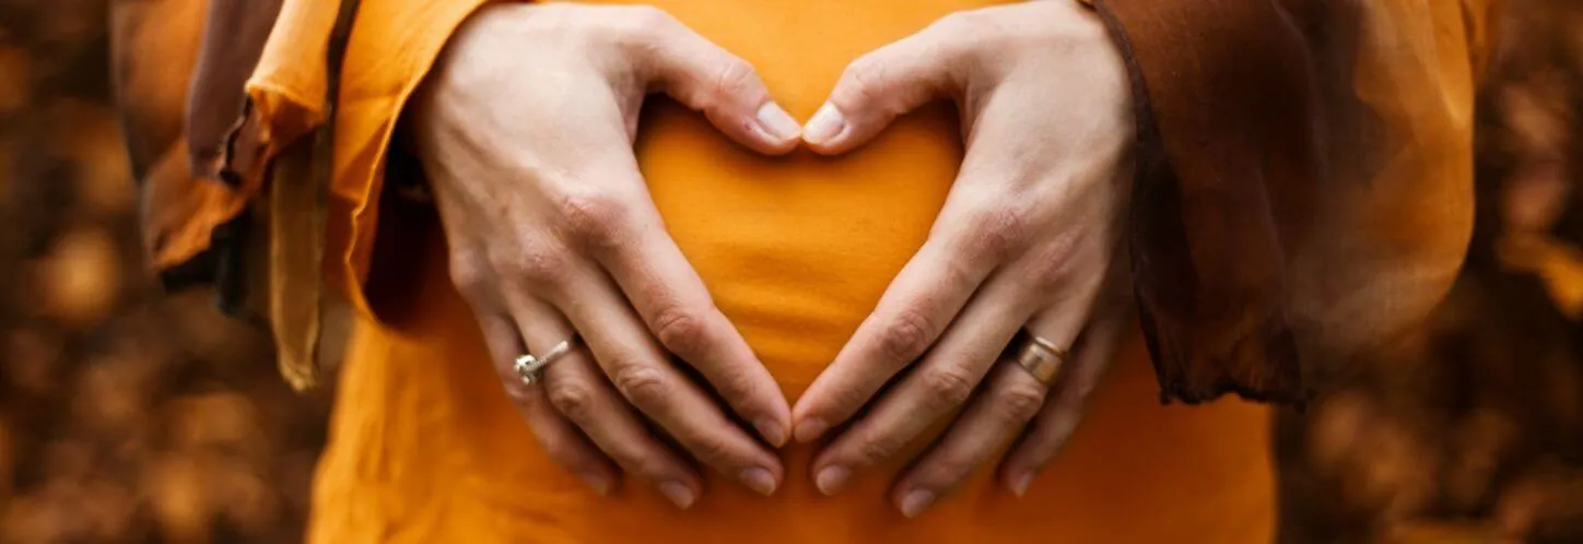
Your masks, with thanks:
[{"label": "blurred brown foliage to the left of the person", "polygon": [[328,403],[146,272],[104,0],[0,0],[0,542],[294,542]]}]

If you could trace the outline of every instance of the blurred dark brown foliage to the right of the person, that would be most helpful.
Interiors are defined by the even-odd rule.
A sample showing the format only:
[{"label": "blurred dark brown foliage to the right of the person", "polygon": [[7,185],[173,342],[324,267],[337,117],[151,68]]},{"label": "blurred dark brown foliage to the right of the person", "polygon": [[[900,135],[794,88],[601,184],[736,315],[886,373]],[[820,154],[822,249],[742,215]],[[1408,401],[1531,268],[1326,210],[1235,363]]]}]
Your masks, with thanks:
[{"label": "blurred dark brown foliage to the right of the person", "polygon": [[1504,16],[1467,264],[1422,331],[1277,416],[1284,542],[1583,542],[1583,2]]}]

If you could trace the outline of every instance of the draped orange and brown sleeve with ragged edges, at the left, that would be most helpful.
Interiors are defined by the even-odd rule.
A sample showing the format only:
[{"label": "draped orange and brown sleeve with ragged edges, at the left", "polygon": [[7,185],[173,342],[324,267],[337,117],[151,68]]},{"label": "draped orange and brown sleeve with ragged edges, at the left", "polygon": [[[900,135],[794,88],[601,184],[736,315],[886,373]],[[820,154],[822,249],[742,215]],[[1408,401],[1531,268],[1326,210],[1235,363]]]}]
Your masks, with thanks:
[{"label": "draped orange and brown sleeve with ragged edges, at the left", "polygon": [[325,365],[325,315],[339,300],[370,312],[363,280],[396,120],[486,0],[212,2],[190,157],[161,163],[193,176],[144,185],[144,237],[168,285],[214,285],[222,308],[268,321],[282,373],[304,389]]}]

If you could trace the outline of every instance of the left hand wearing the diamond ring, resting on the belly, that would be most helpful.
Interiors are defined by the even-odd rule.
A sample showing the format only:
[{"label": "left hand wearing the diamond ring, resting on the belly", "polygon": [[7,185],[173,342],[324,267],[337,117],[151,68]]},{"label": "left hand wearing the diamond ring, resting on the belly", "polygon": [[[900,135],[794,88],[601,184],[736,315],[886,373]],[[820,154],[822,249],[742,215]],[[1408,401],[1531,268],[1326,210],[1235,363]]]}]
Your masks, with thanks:
[{"label": "left hand wearing the diamond ring, resting on the belly", "polygon": [[[597,492],[621,471],[681,508],[703,465],[771,493],[780,460],[671,362],[692,365],[773,446],[790,408],[666,234],[632,144],[651,92],[728,138],[785,153],[799,127],[741,59],[644,6],[497,5],[453,36],[413,101],[451,278],[507,394],[548,454]],[[513,370],[581,337],[527,386]],[[636,408],[636,410],[633,410]],[[641,413],[641,414],[640,414]],[[619,470],[617,470],[619,467]]]}]

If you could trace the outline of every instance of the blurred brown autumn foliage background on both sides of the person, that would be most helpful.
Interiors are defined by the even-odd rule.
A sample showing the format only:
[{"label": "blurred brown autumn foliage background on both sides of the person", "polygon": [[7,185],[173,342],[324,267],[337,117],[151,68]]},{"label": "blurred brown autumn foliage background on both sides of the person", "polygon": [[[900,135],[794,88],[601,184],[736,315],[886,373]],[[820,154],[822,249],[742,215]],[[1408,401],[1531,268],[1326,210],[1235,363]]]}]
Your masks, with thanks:
[{"label": "blurred brown autumn foliage background on both sides of the person", "polygon": [[[152,5],[187,8],[139,30]],[[0,0],[0,542],[301,539],[331,387],[293,394],[260,331],[142,264],[111,36],[180,36],[198,5]],[[1583,2],[1505,13],[1467,267],[1273,422],[1287,542],[1583,542]]]}]

